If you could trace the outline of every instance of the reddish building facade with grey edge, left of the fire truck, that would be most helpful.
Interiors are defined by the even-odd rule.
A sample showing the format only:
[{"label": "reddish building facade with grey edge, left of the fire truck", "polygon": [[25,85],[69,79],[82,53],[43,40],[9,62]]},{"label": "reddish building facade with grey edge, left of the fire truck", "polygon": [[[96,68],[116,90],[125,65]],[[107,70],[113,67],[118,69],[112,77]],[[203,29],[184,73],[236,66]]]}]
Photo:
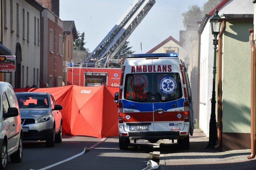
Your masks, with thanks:
[{"label": "reddish building facade with grey edge, left of the fire truck", "polygon": [[41,14],[40,85],[62,86],[63,22],[49,9]]}]

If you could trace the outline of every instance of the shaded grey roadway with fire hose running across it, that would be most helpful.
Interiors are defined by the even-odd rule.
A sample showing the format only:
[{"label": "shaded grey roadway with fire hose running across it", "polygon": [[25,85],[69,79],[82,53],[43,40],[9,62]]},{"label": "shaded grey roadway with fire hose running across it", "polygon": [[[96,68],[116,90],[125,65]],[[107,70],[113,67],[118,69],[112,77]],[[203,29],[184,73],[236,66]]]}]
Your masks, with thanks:
[{"label": "shaded grey roadway with fire hose running across it", "polygon": [[[127,151],[121,151],[118,148],[117,137],[109,137],[102,143],[100,140],[84,136],[63,136],[62,143],[55,144],[53,148],[45,147],[44,141],[24,141],[22,162],[11,163],[8,159],[7,170],[44,170],[47,169],[45,167],[81,153],[84,147],[90,150],[72,160],[53,166],[49,170],[139,170],[144,169],[153,157],[150,152],[157,150],[155,144],[138,142],[131,144],[130,146],[133,147],[129,147]],[[97,145],[98,143],[100,144]],[[94,147],[90,148],[91,146]]]}]

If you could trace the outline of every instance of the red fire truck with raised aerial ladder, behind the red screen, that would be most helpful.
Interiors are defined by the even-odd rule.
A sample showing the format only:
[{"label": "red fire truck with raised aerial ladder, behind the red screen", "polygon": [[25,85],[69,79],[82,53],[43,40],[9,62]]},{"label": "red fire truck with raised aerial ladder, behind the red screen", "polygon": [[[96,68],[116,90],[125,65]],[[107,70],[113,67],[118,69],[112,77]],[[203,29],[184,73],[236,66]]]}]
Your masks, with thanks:
[{"label": "red fire truck with raised aerial ladder, behind the red screen", "polygon": [[135,0],[87,58],[69,63],[67,85],[119,87],[122,61],[113,57],[154,4],[155,0]]}]

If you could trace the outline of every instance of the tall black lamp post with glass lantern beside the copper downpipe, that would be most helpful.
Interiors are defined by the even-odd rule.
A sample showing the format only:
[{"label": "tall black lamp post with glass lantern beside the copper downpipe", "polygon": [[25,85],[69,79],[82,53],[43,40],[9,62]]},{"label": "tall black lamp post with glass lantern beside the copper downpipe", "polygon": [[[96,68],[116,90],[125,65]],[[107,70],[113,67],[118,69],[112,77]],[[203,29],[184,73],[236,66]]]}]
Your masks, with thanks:
[{"label": "tall black lamp post with glass lantern beside the copper downpipe", "polygon": [[216,51],[218,40],[217,36],[220,33],[221,22],[218,21],[221,18],[218,15],[217,7],[215,9],[214,15],[212,19],[210,19],[212,34],[214,35],[213,45],[214,45],[214,60],[213,60],[213,82],[212,82],[212,110],[211,110],[211,118],[210,118],[210,127],[209,127],[209,143],[207,148],[215,148],[216,145],[216,115],[215,115],[215,106],[216,106],[216,97],[215,97],[215,77],[216,77]]}]

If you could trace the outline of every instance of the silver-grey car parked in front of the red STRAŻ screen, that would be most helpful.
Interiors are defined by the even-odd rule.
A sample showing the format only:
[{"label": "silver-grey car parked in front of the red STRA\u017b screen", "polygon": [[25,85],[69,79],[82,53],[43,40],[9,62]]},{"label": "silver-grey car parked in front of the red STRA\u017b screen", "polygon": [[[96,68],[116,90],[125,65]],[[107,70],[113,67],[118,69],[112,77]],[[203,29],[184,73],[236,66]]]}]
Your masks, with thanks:
[{"label": "silver-grey car parked in front of the red STRA\u017b screen", "polygon": [[46,147],[62,142],[61,105],[50,93],[17,92],[23,140],[46,141]]}]

